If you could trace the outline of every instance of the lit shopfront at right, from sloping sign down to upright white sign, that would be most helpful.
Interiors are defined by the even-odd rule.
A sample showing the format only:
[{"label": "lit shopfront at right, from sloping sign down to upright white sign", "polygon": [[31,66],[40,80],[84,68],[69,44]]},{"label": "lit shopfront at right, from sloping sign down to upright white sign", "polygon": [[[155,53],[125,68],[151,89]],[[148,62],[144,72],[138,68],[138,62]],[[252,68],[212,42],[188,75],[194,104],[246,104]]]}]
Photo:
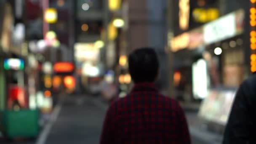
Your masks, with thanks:
[{"label": "lit shopfront at right, from sloping sign down to upright white sign", "polygon": [[245,12],[240,9],[170,41],[178,91],[190,91],[192,99],[204,99],[211,88],[240,85],[248,74],[244,19]]}]

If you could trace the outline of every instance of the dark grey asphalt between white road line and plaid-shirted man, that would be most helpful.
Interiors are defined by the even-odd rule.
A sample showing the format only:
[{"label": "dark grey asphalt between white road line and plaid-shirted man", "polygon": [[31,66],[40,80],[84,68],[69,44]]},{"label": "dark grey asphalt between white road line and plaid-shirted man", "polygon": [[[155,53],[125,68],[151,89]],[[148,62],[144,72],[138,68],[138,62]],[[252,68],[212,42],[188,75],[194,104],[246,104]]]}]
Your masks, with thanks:
[{"label": "dark grey asphalt between white road line and plaid-shirted man", "polygon": [[45,144],[98,144],[105,110],[88,96],[70,96],[61,104]]}]

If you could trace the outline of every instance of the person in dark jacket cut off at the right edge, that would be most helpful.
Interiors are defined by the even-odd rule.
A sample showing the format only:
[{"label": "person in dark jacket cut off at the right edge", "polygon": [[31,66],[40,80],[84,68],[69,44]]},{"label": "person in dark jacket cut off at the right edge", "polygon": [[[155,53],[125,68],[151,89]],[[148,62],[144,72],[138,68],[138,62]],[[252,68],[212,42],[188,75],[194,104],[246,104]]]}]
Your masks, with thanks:
[{"label": "person in dark jacket cut off at the right edge", "polygon": [[224,132],[223,144],[256,144],[256,75],[238,89]]}]

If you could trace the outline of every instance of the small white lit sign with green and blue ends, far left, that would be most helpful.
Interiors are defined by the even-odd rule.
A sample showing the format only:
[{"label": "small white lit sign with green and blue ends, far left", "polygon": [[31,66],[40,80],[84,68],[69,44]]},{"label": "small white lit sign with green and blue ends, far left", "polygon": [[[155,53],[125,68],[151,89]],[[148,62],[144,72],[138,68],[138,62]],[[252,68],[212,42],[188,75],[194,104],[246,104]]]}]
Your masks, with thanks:
[{"label": "small white lit sign with green and blue ends, far left", "polygon": [[6,70],[22,70],[24,69],[24,60],[23,59],[5,59],[4,68]]}]

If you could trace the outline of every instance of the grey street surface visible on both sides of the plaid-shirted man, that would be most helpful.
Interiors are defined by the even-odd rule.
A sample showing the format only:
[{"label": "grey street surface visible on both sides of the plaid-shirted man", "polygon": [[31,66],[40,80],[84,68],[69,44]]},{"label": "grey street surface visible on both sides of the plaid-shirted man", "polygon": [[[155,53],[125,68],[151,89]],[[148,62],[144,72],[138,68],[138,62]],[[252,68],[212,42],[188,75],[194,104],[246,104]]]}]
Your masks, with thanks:
[{"label": "grey street surface visible on both sides of the plaid-shirted man", "polygon": [[[107,103],[99,97],[69,96],[50,131],[37,144],[98,144],[106,110]],[[195,112],[187,112],[187,118],[192,144],[220,144],[216,135],[197,128]]]}]

